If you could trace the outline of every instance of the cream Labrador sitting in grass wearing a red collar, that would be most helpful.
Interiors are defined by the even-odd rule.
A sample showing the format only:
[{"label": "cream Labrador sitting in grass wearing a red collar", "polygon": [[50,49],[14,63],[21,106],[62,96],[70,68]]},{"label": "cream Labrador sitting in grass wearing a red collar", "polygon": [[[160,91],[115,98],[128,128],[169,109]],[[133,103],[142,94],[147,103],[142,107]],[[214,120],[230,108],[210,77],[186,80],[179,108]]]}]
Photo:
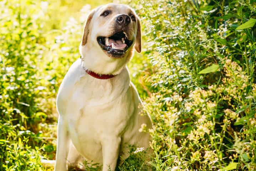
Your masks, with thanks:
[{"label": "cream Labrador sitting in grass wearing a red collar", "polygon": [[[114,171],[129,156],[128,144],[149,147],[152,127],[140,115],[142,101],[130,82],[127,63],[141,51],[140,21],[127,5],[99,6],[89,14],[79,47],[81,58],[57,94],[59,113],[55,171],[79,167],[84,159]],[[82,169],[82,168],[80,168]]]}]

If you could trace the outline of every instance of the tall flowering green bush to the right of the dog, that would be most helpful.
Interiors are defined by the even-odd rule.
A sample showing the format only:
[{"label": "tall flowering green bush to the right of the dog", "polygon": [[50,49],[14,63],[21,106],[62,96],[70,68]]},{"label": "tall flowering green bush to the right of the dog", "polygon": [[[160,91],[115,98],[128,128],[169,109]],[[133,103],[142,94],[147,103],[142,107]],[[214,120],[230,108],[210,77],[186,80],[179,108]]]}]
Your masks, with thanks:
[{"label": "tall flowering green bush to the right of the dog", "polygon": [[256,3],[140,0],[134,7],[152,64],[141,77],[151,83],[144,112],[154,122],[155,170],[254,170]]}]

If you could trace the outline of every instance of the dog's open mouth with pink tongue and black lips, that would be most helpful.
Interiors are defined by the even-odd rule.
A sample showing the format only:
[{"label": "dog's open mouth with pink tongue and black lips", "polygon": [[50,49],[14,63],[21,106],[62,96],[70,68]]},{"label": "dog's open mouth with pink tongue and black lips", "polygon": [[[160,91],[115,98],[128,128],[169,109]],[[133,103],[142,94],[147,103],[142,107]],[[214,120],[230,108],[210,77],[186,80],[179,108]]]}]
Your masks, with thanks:
[{"label": "dog's open mouth with pink tongue and black lips", "polygon": [[99,46],[104,51],[113,55],[123,55],[132,45],[132,40],[128,40],[125,32],[118,32],[111,37],[97,37]]}]

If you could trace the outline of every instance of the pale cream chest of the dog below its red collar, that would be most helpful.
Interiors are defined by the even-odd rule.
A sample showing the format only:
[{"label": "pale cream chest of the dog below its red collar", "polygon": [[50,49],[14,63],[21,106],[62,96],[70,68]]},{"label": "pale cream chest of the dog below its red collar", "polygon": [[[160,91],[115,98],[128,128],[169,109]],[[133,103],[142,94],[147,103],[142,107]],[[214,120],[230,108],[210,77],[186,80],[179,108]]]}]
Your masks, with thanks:
[{"label": "pale cream chest of the dog below its red collar", "polygon": [[117,86],[106,80],[81,79],[75,83],[67,103],[68,131],[75,147],[87,158],[101,151],[102,139],[125,129],[133,112],[127,87],[129,84]]}]

